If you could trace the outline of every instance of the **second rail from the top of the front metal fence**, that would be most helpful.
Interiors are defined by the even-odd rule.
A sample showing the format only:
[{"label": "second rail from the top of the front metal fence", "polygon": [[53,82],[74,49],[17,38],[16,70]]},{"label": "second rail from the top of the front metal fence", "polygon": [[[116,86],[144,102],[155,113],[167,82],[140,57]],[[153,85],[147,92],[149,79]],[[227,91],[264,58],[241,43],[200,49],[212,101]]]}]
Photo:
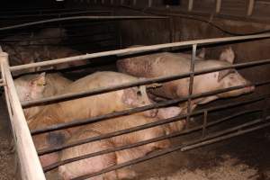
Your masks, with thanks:
[{"label": "second rail from the top of the front metal fence", "polygon": [[[228,67],[214,67],[214,68],[209,68],[209,69],[206,69],[206,70],[195,71],[194,75],[202,75],[202,74],[205,74],[205,73],[211,73],[211,72],[215,72],[215,71],[218,71],[218,70],[224,70],[224,69],[229,69],[229,68],[233,68],[233,67],[260,66],[260,65],[269,64],[269,63],[270,63],[270,59],[257,60],[257,61],[247,62],[247,63],[240,63],[240,64],[237,64],[237,65],[231,65],[231,66],[228,66]],[[124,89],[124,88],[129,88],[129,87],[138,86],[138,85],[164,83],[164,82],[167,82],[167,81],[172,81],[172,80],[188,77],[190,75],[191,75],[191,73],[188,72],[188,73],[179,74],[179,75],[175,75],[175,76],[162,76],[162,77],[141,79],[141,80],[131,82],[131,83],[125,83],[125,84],[121,84],[121,85],[113,85],[113,86],[110,86],[110,87],[96,88],[94,90],[89,90],[89,91],[85,91],[85,92],[81,92],[81,93],[59,94],[59,95],[54,95],[54,96],[50,96],[50,97],[44,97],[44,98],[40,98],[40,99],[37,99],[37,100],[31,100],[31,101],[22,102],[22,105],[23,105],[23,107],[27,107],[27,106],[36,105],[36,104],[39,104],[39,103],[52,103],[52,102],[65,101],[65,100],[67,101],[67,99],[70,100],[70,99],[75,99],[75,98],[84,97],[84,96],[90,96],[90,95],[95,95],[95,94],[109,93],[109,92],[112,92],[112,91],[121,90],[121,89]]]}]

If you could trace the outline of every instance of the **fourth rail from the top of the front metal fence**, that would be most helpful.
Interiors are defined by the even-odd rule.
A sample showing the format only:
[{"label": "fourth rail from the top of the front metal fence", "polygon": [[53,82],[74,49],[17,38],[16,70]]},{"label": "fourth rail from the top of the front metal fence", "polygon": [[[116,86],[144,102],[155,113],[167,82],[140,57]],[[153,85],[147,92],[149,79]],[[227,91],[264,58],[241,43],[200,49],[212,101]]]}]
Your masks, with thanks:
[{"label": "fourth rail from the top of the front metal fence", "polygon": [[[262,100],[262,99],[260,99],[260,100]],[[219,110],[219,109],[233,107],[233,106],[237,106],[237,105],[240,105],[240,104],[255,103],[257,101],[259,101],[259,100],[246,101],[246,102],[241,102],[241,103],[229,103],[229,104],[225,104],[225,105],[220,105],[220,106],[215,107],[215,108],[208,108],[207,110],[208,111],[216,111],[216,110]],[[190,115],[199,115],[204,111],[206,111],[206,110],[192,112]],[[153,128],[153,127],[156,127],[158,125],[163,125],[163,124],[173,122],[173,121],[180,121],[185,117],[186,117],[186,114],[178,115],[178,116],[175,116],[173,118],[168,118],[168,119],[164,119],[164,120],[160,120],[160,121],[151,122],[151,123],[144,124],[144,125],[141,125],[141,126],[137,126],[137,127],[134,127],[134,128],[130,128],[130,129],[126,129],[126,130],[118,130],[118,131],[115,131],[115,132],[111,132],[111,133],[108,133],[108,134],[101,135],[99,137],[94,137],[94,138],[89,138],[89,139],[84,139],[84,140],[78,140],[78,141],[76,141],[74,143],[70,143],[68,145],[63,145],[63,146],[54,147],[54,148],[40,149],[39,150],[39,155],[47,154],[47,153],[50,153],[50,152],[55,152],[55,151],[61,150],[63,148],[74,147],[76,145],[85,144],[87,142],[91,142],[91,141],[94,141],[94,140],[108,139],[108,138],[119,136],[119,135],[122,135],[122,134],[125,134],[125,133],[130,133],[130,132],[137,131],[137,130],[145,130],[145,129],[148,129],[148,128]],[[209,125],[210,124],[211,123],[209,123]]]}]

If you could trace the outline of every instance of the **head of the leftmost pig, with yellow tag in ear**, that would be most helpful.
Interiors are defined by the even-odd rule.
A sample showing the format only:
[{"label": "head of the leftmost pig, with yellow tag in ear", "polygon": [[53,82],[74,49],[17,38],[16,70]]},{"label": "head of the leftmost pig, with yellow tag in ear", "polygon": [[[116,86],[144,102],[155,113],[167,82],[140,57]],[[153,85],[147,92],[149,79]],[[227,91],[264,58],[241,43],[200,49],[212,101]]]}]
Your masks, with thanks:
[{"label": "head of the leftmost pig, with yellow tag in ear", "polygon": [[[14,85],[21,102],[39,99],[43,97],[43,92],[45,90],[45,73],[41,73],[40,75],[21,76],[14,80]],[[40,112],[40,108],[38,106],[29,107],[23,109],[23,112],[25,117],[29,119],[31,116]]]}]

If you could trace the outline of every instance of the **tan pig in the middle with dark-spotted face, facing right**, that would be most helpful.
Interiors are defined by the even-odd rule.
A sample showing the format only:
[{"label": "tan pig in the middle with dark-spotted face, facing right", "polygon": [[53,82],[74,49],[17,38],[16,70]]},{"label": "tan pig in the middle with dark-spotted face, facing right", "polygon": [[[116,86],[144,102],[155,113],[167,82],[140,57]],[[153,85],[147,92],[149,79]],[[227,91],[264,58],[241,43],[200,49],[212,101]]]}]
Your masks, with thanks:
[{"label": "tan pig in the middle with dark-spotted face, facing right", "polygon": [[[138,80],[137,77],[129,76],[117,72],[103,71],[96,72],[92,75],[85,76],[67,85],[61,92],[62,94],[80,93],[88,90],[94,90],[100,87],[110,87],[112,85],[121,85]],[[97,94],[89,97],[78,98],[57,104],[58,112],[64,114],[64,119],[72,121],[73,119],[85,119],[110,112],[119,112],[134,107],[150,104],[146,86],[131,87],[105,94]],[[113,102],[113,103],[112,103]],[[78,113],[79,112],[79,113]],[[145,115],[155,117],[157,110],[144,112]],[[63,115],[61,115],[63,117]]]}]

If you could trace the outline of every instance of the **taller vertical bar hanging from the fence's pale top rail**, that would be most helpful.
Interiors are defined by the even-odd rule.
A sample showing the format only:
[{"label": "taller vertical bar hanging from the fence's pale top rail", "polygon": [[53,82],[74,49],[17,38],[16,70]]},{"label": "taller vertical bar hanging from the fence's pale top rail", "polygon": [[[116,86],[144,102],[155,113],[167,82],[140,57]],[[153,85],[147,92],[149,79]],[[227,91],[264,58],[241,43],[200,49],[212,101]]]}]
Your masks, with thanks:
[{"label": "taller vertical bar hanging from the fence's pale top rail", "polygon": [[196,49],[197,49],[197,44],[193,44],[193,55],[190,63],[190,78],[189,78],[189,88],[188,88],[188,102],[187,102],[187,113],[188,115],[186,116],[186,126],[188,127],[189,121],[190,121],[190,115],[191,113],[191,103],[192,103],[192,97],[191,95],[193,94],[193,80],[194,80],[194,68],[195,68],[195,58],[196,58]]}]

